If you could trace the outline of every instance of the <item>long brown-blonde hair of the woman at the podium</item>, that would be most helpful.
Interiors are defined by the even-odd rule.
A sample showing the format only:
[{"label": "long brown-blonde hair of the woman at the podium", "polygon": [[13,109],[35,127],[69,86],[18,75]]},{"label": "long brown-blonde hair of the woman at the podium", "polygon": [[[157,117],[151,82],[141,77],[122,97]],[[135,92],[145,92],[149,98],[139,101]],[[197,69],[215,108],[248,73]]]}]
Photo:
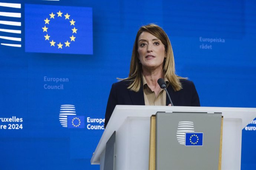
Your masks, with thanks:
[{"label": "long brown-blonde hair of the woman at the podium", "polygon": [[142,74],[142,65],[139,60],[138,54],[138,39],[142,32],[148,32],[155,37],[159,38],[159,40],[164,44],[166,60],[164,60],[164,77],[168,79],[171,86],[173,86],[174,91],[179,91],[182,89],[180,79],[182,78],[175,74],[175,64],[174,64],[174,56],[173,56],[173,48],[171,47],[170,40],[164,30],[155,24],[149,24],[146,26],[140,27],[138,33],[136,35],[136,39],[134,42],[133,50],[132,50],[132,58],[131,58],[131,65],[130,65],[130,72],[129,76],[124,79],[124,81],[131,81],[128,89],[138,92],[141,88],[141,74]]}]

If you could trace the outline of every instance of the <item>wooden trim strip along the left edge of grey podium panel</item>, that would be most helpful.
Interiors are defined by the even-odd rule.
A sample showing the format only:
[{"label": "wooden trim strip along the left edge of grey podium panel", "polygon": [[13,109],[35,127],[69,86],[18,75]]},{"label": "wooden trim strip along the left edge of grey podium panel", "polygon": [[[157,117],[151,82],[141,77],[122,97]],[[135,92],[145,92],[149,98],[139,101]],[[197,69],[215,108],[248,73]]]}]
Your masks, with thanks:
[{"label": "wooden trim strip along the left edge of grey podium panel", "polygon": [[155,115],[150,117],[150,148],[148,170],[155,170]]}]

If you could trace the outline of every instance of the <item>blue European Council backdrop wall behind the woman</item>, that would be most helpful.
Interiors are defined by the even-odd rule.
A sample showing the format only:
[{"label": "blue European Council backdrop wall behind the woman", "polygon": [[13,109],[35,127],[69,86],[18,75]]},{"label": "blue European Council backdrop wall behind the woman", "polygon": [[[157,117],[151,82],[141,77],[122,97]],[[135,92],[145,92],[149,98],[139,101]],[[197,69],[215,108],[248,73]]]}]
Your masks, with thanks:
[{"label": "blue European Council backdrop wall behind the woman", "polygon": [[[148,23],[168,34],[201,106],[255,108],[255,9],[254,0],[1,0],[0,169],[99,169],[90,159],[111,85],[127,77]],[[255,124],[243,130],[244,170],[256,167]]]}]

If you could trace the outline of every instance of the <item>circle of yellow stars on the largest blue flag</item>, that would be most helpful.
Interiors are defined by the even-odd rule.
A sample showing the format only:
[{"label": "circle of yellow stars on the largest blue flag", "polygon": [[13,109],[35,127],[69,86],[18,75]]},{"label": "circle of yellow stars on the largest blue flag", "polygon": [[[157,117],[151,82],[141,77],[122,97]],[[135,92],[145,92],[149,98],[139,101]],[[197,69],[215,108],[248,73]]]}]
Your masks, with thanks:
[{"label": "circle of yellow stars on the largest blue flag", "polygon": [[[58,14],[58,16],[57,17],[62,17],[62,12],[61,11],[59,11],[58,13],[56,13],[56,14]],[[50,16],[50,20],[48,19],[48,18],[46,18],[44,21],[45,21],[45,27],[42,27],[42,29],[43,29],[43,32],[46,32],[46,35],[44,36],[45,37],[45,41],[46,40],[48,40],[49,41],[49,43],[50,43],[50,45],[51,45],[51,47],[53,46],[53,47],[55,47],[55,41],[53,41],[53,39],[52,39],[52,41],[50,41],[50,35],[48,35],[48,33],[47,33],[47,30],[48,30],[48,27],[46,27],[47,25],[46,24],[48,24],[48,25],[50,25],[50,21],[51,21],[51,19],[53,20],[53,19],[55,19],[54,17],[55,17],[55,15],[56,14],[53,14],[53,13],[51,13],[51,14],[49,14],[49,16]],[[70,20],[69,19],[69,17],[70,17],[70,15],[68,14],[68,13],[66,13],[66,15],[64,15],[65,16],[65,20]],[[76,37],[74,37],[74,35],[73,34],[76,34],[76,31],[78,30],[78,29],[76,29],[76,27],[75,27],[75,22],[76,21],[74,21],[73,19],[71,20],[71,21],[69,21],[70,22],[70,26],[73,26],[73,29],[71,29],[72,30],[72,37],[69,37],[70,38],[70,41],[66,41],[66,42],[64,42],[63,44],[61,44],[61,42],[59,42],[59,44],[56,44],[56,45],[58,45],[58,49],[62,49],[62,46],[65,44],[65,47],[69,47],[69,44],[72,42],[72,41],[74,41],[75,42],[75,38]]]}]

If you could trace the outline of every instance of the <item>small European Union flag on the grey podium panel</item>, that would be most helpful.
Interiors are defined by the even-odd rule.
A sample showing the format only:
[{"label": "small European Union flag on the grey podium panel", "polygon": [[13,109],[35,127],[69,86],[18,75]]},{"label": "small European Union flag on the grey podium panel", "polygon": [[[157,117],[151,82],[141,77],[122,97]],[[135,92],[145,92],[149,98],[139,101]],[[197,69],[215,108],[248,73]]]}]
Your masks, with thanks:
[{"label": "small European Union flag on the grey podium panel", "polygon": [[186,133],[185,146],[203,146],[203,133]]}]

